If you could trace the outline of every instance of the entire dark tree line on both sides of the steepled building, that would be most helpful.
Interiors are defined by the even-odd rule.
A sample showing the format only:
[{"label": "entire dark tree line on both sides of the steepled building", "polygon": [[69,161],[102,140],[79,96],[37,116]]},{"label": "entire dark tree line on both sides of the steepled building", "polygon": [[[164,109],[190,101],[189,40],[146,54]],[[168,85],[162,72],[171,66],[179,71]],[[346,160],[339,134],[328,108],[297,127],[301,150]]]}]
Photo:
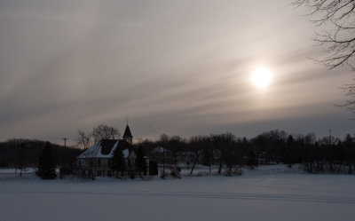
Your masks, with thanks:
[{"label": "entire dark tree line on both sides of the steepled building", "polygon": [[[38,168],[46,145],[49,143],[30,139],[0,142],[0,167],[15,168],[19,173],[24,168]],[[53,164],[63,172],[71,173],[75,157],[83,152],[83,148],[50,145]],[[150,174],[158,174],[161,170],[162,177],[169,174],[178,177],[182,167],[193,175],[199,164],[207,166],[209,173],[225,176],[240,175],[243,166],[254,168],[275,163],[299,163],[310,173],[355,171],[355,137],[350,134],[343,139],[333,136],[316,138],[313,133],[288,134],[283,130],[266,131],[254,138],[238,138],[232,133],[191,138],[162,134],[156,140],[141,140],[133,148],[138,151],[139,158],[149,156]],[[114,157],[114,170],[124,170],[122,153]]]}]

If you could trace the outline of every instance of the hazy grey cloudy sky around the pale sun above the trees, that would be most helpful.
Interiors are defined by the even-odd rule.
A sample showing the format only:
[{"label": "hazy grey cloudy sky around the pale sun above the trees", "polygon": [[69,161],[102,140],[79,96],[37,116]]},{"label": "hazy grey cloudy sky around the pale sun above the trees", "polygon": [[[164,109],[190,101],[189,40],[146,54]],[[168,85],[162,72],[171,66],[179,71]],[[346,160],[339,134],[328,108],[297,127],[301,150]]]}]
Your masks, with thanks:
[{"label": "hazy grey cloudy sky around the pale sun above the trees", "polygon": [[[354,133],[340,89],[312,61],[308,11],[285,0],[2,0],[0,139],[75,140],[104,123],[135,138],[267,130]],[[257,88],[258,67],[272,82]]]}]

